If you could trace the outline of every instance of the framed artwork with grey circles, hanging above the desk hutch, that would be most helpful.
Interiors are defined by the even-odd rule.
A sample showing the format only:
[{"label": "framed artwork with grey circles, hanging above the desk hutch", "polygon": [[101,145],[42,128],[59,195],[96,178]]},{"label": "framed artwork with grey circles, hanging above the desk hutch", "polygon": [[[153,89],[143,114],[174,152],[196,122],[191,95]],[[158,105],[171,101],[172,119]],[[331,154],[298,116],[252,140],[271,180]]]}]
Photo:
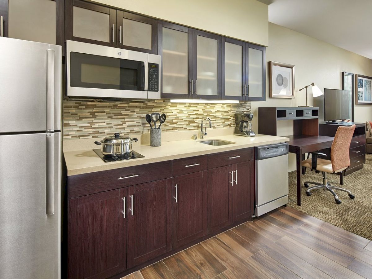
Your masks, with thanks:
[{"label": "framed artwork with grey circles, hanging above the desk hutch", "polygon": [[295,66],[279,62],[269,62],[270,98],[295,97]]}]

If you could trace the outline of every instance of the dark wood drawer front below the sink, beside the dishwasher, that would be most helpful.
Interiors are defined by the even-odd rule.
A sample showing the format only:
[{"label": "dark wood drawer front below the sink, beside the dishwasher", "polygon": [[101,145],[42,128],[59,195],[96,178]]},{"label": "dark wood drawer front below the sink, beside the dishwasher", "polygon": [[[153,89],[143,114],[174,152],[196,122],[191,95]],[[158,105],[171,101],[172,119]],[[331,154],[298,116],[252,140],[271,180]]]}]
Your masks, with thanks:
[{"label": "dark wood drawer front below the sink, beside the dishwasher", "polygon": [[208,170],[253,160],[253,147],[208,154]]}]

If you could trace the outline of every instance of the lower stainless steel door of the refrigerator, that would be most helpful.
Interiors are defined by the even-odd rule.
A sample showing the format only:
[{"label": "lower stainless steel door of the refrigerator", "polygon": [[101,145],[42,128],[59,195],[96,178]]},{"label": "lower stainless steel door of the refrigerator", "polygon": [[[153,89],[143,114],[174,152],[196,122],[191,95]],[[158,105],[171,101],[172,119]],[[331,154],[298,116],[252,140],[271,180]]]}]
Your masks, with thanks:
[{"label": "lower stainless steel door of the refrigerator", "polygon": [[[2,279],[61,276],[60,142],[61,133],[0,135]],[[47,201],[48,192],[53,201]]]}]

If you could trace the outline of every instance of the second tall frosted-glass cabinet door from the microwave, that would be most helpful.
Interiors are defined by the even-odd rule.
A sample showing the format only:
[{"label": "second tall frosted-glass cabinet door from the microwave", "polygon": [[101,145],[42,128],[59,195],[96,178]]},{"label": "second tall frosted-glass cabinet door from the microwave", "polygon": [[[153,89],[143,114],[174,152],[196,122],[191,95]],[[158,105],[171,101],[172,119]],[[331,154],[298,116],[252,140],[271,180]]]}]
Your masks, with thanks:
[{"label": "second tall frosted-glass cabinet door from the microwave", "polygon": [[[221,36],[194,30],[194,92],[196,99],[221,97]],[[195,67],[196,65],[196,67]]]}]

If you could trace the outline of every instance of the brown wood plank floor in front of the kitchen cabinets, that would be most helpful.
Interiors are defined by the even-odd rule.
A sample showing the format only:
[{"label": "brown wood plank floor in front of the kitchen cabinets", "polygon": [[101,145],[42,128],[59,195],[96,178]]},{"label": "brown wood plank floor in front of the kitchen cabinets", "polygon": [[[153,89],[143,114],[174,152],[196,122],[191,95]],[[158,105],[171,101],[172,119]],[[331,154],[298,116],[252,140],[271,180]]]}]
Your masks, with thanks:
[{"label": "brown wood plank floor in front of the kitchen cabinets", "polygon": [[372,279],[372,241],[282,207],[124,278]]}]

